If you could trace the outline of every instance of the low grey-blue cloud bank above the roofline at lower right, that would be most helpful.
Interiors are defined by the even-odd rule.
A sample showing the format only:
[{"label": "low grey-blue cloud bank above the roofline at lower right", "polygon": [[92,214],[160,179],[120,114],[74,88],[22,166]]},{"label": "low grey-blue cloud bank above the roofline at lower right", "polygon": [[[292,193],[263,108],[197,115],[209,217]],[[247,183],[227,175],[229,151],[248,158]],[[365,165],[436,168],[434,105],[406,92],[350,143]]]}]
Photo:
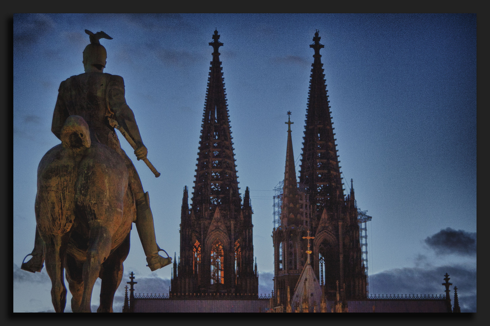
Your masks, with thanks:
[{"label": "low grey-blue cloud bank above the roofline at lower right", "polygon": [[444,274],[448,273],[453,287],[458,287],[461,310],[476,312],[476,269],[465,266],[440,266],[429,268],[396,268],[369,275],[371,294],[429,294],[445,295],[442,285]]}]

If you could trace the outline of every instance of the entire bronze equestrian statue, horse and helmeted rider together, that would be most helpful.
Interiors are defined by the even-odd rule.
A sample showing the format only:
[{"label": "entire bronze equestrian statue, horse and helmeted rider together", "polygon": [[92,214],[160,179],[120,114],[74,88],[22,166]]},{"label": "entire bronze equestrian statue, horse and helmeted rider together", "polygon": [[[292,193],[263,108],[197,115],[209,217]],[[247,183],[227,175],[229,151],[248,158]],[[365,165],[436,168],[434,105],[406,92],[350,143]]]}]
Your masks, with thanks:
[{"label": "entire bronze equestrian statue, horse and helmeted rider together", "polygon": [[39,163],[35,245],[28,255],[32,258],[21,267],[40,272],[46,259],[56,312],[66,305],[65,268],[73,312],[91,311],[98,277],[102,283],[97,311],[112,312],[133,222],[151,271],[172,262],[158,254],[148,193],[114,131],[116,121],[132,140],[138,160],[149,163],[124,98],[123,78],[103,72],[107,53],[99,39],[112,38],[104,32],[85,32],[91,41],[83,51],[85,73],[61,82],[58,90],[51,131],[62,143]]}]

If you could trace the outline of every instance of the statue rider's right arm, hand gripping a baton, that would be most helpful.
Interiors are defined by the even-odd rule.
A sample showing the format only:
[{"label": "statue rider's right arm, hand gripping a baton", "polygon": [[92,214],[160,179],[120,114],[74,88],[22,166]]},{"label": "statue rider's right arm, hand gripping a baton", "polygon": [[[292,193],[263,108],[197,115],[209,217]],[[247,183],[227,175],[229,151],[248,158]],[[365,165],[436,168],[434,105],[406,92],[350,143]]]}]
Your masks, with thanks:
[{"label": "statue rider's right arm, hand gripping a baton", "polygon": [[134,151],[138,160],[145,158],[148,151],[141,139],[140,129],[136,123],[133,110],[131,110],[126,103],[123,77],[117,75],[111,76],[107,97],[110,109],[114,113],[116,121],[118,121],[119,125],[123,126],[124,130],[129,133],[131,139],[138,145],[138,148]]}]

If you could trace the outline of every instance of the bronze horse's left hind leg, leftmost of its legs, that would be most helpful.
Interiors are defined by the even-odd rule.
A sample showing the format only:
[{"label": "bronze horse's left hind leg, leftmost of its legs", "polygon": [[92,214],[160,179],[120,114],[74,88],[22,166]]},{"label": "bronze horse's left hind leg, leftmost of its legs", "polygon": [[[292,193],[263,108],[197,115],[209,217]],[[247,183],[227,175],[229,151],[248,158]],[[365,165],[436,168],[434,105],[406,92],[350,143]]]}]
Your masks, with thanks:
[{"label": "bronze horse's left hind leg, leftmost of its legs", "polygon": [[51,302],[54,311],[63,312],[66,306],[64,262],[70,233],[49,234],[44,237],[46,247],[46,271],[51,279]]}]

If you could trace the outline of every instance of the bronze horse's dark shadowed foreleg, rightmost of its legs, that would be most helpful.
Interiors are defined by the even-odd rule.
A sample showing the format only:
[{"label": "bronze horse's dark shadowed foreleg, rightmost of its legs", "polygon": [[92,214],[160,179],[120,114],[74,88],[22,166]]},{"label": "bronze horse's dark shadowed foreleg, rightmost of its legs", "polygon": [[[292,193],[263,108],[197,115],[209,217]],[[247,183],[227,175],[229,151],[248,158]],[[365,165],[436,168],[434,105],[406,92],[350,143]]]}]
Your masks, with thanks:
[{"label": "bronze horse's dark shadowed foreleg, rightmost of its legs", "polygon": [[121,280],[123,279],[123,261],[129,254],[129,238],[127,234],[123,243],[102,263],[99,277],[102,279],[100,286],[100,305],[97,312],[114,312],[112,303]]}]

